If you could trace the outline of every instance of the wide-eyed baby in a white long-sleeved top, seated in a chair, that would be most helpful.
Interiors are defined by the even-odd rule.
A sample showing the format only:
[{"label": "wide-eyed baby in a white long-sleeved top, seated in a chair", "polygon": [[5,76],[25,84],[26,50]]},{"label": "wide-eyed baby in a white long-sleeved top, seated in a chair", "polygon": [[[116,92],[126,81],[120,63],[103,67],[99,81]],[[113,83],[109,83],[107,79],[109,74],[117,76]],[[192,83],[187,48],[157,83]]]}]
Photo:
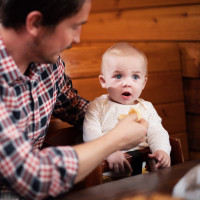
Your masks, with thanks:
[{"label": "wide-eyed baby in a white long-sleeved top, seated in a chair", "polygon": [[[156,160],[155,168],[170,166],[169,135],[161,124],[153,105],[140,97],[148,78],[147,58],[140,50],[128,43],[117,43],[110,47],[102,57],[101,86],[107,89],[108,94],[102,95],[90,102],[83,124],[83,139],[85,142],[94,140],[106,134],[116,126],[120,116],[127,115],[130,110],[136,109],[148,122],[146,142],[126,152],[138,154],[138,149],[147,146],[151,149],[150,158]],[[137,156],[136,156],[137,157]],[[134,168],[136,161],[130,164],[124,157],[124,152],[117,151],[107,158],[110,169],[115,174],[133,172],[141,173],[141,163]]]}]

